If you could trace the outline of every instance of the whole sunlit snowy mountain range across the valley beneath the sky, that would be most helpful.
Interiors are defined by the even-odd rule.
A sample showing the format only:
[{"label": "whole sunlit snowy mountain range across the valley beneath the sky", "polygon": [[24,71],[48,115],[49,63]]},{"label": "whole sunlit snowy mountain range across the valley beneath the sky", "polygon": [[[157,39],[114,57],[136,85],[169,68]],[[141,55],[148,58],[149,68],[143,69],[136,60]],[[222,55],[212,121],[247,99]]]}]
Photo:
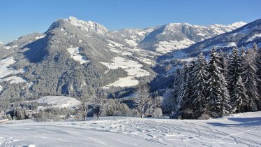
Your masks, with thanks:
[{"label": "whole sunlit snowy mountain range across the valley beneath the sky", "polygon": [[96,22],[73,17],[59,19],[45,33],[29,34],[0,45],[0,98],[79,97],[82,90],[91,92],[97,88],[121,97],[128,94],[128,88],[156,77],[151,66],[157,64],[158,57],[167,52],[172,56],[175,50],[188,57],[197,52],[188,46],[236,33],[244,25],[236,22],[204,27],[170,23],[108,31]]}]

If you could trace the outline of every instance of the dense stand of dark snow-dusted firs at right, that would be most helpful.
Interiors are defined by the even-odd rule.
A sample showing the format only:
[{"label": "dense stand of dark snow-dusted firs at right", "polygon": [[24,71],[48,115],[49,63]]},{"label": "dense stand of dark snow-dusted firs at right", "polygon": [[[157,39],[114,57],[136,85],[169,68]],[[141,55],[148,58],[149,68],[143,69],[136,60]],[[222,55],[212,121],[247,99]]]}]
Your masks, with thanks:
[{"label": "dense stand of dark snow-dusted firs at right", "polygon": [[207,119],[261,110],[261,50],[233,48],[229,55],[212,48],[209,59],[177,69],[174,89],[163,100],[170,118]]}]

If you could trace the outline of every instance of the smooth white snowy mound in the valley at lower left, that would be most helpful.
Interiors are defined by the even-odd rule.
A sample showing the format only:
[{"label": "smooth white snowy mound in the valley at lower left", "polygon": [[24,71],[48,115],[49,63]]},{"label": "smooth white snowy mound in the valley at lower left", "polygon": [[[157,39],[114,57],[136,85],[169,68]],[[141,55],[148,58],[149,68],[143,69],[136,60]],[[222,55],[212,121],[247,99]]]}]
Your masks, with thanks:
[{"label": "smooth white snowy mound in the valley at lower left", "polygon": [[73,108],[74,106],[78,106],[80,101],[73,97],[65,97],[65,96],[45,96],[40,99],[34,100],[38,103],[46,103],[58,108]]}]

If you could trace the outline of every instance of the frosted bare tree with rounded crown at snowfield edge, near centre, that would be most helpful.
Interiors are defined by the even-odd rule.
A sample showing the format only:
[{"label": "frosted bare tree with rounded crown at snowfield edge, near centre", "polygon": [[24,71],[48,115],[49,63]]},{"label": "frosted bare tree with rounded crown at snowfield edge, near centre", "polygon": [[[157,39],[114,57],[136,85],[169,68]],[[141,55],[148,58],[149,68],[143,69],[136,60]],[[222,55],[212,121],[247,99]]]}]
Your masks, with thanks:
[{"label": "frosted bare tree with rounded crown at snowfield edge, near centre", "polygon": [[134,102],[137,111],[140,113],[140,118],[144,118],[154,108],[154,101],[149,94],[149,86],[147,84],[140,84],[134,93]]}]

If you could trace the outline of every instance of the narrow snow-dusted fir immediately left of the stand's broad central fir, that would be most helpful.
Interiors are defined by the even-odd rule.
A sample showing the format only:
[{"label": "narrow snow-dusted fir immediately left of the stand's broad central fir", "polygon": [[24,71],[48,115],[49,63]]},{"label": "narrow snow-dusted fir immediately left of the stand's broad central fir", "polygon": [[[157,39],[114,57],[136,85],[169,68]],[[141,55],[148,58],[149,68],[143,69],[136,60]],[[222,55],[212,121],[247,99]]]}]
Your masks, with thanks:
[{"label": "narrow snow-dusted fir immediately left of the stand's broad central fir", "polygon": [[195,61],[193,69],[193,113],[195,118],[200,118],[202,114],[208,113],[209,100],[207,99],[207,61],[201,52]]}]

